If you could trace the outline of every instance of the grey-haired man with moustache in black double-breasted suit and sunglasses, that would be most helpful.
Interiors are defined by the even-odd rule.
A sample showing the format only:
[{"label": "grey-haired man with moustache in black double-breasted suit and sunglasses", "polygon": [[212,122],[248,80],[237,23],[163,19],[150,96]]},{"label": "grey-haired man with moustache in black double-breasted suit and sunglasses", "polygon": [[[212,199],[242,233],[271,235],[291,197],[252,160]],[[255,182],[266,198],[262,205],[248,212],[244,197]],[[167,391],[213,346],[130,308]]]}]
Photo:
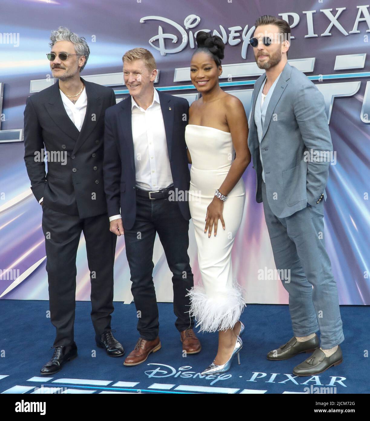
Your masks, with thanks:
[{"label": "grey-haired man with moustache in black double-breasted suit and sunglasses", "polygon": [[[124,354],[111,330],[116,236],[109,232],[103,187],[104,114],[116,104],[111,88],[79,76],[90,50],[85,38],[59,27],[50,37],[50,69],[58,81],[27,98],[24,160],[42,206],[50,319],[56,327],[52,359],[41,374],[77,357],[74,342],[76,256],[81,232],[91,280],[95,341],[111,357]],[[44,147],[48,157],[45,174]],[[41,155],[42,156],[42,155]]]}]

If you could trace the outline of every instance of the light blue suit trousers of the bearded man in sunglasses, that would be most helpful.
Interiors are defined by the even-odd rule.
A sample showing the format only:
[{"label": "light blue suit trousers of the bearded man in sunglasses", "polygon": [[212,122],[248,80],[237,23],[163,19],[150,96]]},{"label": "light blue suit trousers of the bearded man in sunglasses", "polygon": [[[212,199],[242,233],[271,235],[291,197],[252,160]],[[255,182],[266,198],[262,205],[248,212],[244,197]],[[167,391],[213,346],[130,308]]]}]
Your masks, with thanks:
[{"label": "light blue suit trousers of the bearded man in sunglasses", "polygon": [[339,345],[344,335],[336,281],[325,250],[324,201],[278,218],[267,202],[263,181],[262,201],[276,269],[290,269],[290,278],[282,283],[289,293],[294,336],[320,330],[322,349]]}]

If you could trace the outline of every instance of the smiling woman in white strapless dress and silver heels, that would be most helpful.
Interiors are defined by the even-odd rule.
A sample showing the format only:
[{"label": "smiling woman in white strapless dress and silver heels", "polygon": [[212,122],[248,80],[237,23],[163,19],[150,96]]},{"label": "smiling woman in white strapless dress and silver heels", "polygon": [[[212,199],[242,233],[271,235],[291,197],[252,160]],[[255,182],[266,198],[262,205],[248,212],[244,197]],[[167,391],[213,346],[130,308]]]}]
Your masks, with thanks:
[{"label": "smiling woman in white strapless dress and silver heels", "polygon": [[190,106],[185,141],[192,164],[189,206],[202,283],[188,295],[190,314],[196,317],[200,331],[219,332],[217,355],[202,372],[211,374],[229,370],[243,346],[244,326],[239,317],[245,303],[241,288],[233,281],[231,249],[243,216],[241,176],[251,155],[243,104],[219,86],[225,45],[220,37],[203,31],[198,32],[196,42],[190,75],[202,96]]}]

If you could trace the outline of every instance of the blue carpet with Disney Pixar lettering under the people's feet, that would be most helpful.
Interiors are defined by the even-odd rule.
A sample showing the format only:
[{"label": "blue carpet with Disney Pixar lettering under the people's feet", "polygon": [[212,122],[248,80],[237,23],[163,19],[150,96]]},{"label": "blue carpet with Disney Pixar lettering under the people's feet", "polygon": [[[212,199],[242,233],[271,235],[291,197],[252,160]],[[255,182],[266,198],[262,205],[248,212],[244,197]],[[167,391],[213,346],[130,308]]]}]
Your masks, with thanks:
[{"label": "blue carpet with Disney Pixar lettering under the people's feet", "polygon": [[[114,303],[112,328],[126,355],[139,337],[134,304]],[[314,377],[296,377],[295,365],[307,358],[269,361],[266,354],[293,336],[288,306],[249,304],[241,320],[241,365],[235,357],[229,372],[202,377],[217,350],[217,333],[198,334],[199,354],[182,357],[180,336],[174,327],[172,304],[159,303],[162,348],[135,367],[123,366],[124,357],[111,358],[96,346],[90,319],[90,302],[77,302],[75,341],[78,357],[52,378],[40,378],[40,368],[50,360],[55,329],[47,318],[48,301],[1,300],[0,392],[32,393],[35,387],[60,387],[65,393],[302,393],[331,387],[332,393],[368,393],[370,348],[366,306],[341,306],[345,341],[344,361]],[[366,321],[366,322],[364,322]],[[95,351],[94,351],[95,350]],[[32,378],[31,381],[29,379]],[[14,388],[15,386],[23,386]],[[327,389],[328,390],[328,389]]]}]

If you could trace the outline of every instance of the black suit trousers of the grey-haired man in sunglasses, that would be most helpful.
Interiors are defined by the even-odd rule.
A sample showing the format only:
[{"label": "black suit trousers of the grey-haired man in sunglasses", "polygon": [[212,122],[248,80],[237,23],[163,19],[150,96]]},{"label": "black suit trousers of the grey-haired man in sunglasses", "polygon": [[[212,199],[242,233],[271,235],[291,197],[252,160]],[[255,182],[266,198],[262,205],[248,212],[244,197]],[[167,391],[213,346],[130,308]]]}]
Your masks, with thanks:
[{"label": "black suit trousers of the grey-haired man in sunglasses", "polygon": [[91,319],[95,333],[111,329],[113,266],[116,235],[109,231],[108,215],[89,218],[67,215],[42,205],[45,235],[50,319],[56,328],[54,346],[74,341],[76,306],[76,257],[84,233],[91,281]]}]

